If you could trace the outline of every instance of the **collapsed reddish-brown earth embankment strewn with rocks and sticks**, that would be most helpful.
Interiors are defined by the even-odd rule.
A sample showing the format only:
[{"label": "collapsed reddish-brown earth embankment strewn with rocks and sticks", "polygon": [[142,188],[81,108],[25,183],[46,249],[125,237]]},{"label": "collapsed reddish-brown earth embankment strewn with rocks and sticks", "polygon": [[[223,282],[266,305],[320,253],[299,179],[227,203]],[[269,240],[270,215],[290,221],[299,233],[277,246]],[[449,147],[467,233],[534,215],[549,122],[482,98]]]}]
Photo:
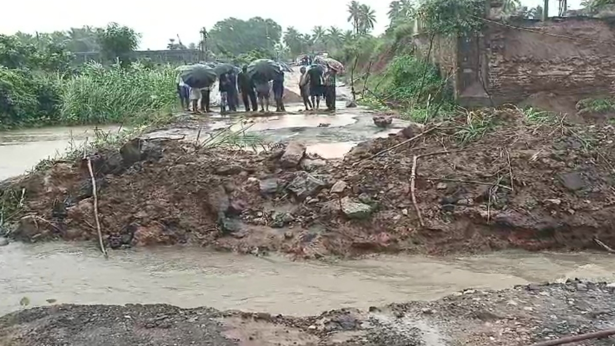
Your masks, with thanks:
[{"label": "collapsed reddish-brown earth embankment strewn with rocks and sticks", "polygon": [[[613,127],[493,112],[375,157],[423,130],[370,140],[343,161],[306,157],[296,143],[253,153],[135,139],[91,156],[103,240],[299,257],[615,245]],[[84,162],[12,184],[25,191],[12,236],[98,238]]]}]

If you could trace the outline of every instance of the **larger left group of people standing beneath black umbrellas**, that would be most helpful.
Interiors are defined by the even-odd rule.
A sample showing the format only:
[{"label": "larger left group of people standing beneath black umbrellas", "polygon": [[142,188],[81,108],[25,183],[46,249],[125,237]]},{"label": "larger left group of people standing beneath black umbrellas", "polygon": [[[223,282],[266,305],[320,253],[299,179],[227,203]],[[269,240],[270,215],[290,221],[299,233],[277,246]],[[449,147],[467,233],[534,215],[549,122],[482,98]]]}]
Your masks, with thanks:
[{"label": "larger left group of people standing beneath black umbrellas", "polygon": [[[192,88],[186,85],[181,76],[177,77],[177,92],[180,96],[181,106],[194,113],[210,113],[211,92],[213,84],[203,88]],[[248,75],[247,66],[239,73],[229,71],[218,77],[218,91],[220,92],[220,113],[236,112],[239,107],[239,94],[242,96],[245,111],[269,111],[269,99],[271,89],[276,100],[276,111],[285,111],[284,97],[284,72],[276,74],[269,85],[269,79],[258,74]],[[257,103],[258,100],[258,103]],[[200,108],[199,108],[200,102]],[[192,106],[192,108],[191,108]]]}]

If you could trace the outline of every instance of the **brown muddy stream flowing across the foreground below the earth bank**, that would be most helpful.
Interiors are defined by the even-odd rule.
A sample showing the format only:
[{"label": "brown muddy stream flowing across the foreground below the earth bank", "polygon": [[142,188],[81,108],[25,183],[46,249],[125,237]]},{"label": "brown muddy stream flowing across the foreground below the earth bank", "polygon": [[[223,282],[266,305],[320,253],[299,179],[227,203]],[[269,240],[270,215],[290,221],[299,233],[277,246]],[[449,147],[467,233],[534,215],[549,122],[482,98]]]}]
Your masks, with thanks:
[{"label": "brown muddy stream flowing across the foreground below the earth bank", "polygon": [[612,255],[496,254],[432,258],[378,256],[343,261],[223,254],[187,247],[111,251],[89,244],[0,247],[0,315],[57,303],[169,303],[290,315],[430,300],[466,288],[588,278],[615,279]]}]

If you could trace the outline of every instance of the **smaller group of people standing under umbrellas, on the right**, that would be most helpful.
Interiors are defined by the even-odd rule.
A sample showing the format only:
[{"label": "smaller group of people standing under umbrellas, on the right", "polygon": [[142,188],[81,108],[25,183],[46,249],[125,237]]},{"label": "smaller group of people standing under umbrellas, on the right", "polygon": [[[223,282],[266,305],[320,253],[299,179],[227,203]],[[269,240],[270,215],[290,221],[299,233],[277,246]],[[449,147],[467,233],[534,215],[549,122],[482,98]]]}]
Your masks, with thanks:
[{"label": "smaller group of people standing under umbrellas, on the right", "polygon": [[299,89],[306,110],[318,110],[320,98],[323,97],[327,110],[335,111],[337,71],[331,66],[327,66],[326,70],[301,66],[300,71]]}]

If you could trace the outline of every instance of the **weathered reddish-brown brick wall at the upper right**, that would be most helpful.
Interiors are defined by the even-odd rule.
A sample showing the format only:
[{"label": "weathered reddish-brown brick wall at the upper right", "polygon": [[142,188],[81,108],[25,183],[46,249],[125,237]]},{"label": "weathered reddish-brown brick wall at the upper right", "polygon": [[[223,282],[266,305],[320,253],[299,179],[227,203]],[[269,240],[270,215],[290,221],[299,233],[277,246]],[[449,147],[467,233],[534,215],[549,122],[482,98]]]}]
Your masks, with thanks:
[{"label": "weathered reddish-brown brick wall at the upper right", "polygon": [[483,71],[496,103],[521,102],[539,93],[582,99],[615,92],[615,30],[605,20],[569,17],[510,25],[541,34],[498,24],[483,31]]}]

